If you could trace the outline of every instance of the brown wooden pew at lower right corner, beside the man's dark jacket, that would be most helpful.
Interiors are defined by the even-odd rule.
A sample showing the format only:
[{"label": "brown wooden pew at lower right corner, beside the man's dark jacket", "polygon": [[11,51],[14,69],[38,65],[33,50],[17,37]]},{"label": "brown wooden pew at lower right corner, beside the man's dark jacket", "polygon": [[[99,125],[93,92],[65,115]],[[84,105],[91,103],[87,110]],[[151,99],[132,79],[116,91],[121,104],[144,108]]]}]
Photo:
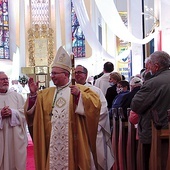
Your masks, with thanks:
[{"label": "brown wooden pew at lower right corner, beside the man's dark jacket", "polygon": [[[154,112],[153,117],[156,117],[156,116],[157,116],[157,113]],[[150,154],[150,169],[151,170],[165,170],[165,169],[169,170],[170,169],[170,151],[169,151],[169,156],[168,156],[168,152],[166,153],[167,150],[164,150],[165,151],[164,158],[162,159],[161,157],[163,153],[162,141],[166,139],[166,140],[169,140],[170,142],[170,110],[168,110],[167,117],[168,117],[168,124],[169,124],[168,129],[161,129],[161,125],[159,123],[158,117],[154,118],[154,122],[152,121],[152,143],[151,143],[151,154]],[[154,123],[158,125],[157,128],[155,127]],[[167,158],[167,161],[166,161],[166,158]],[[164,164],[167,165],[165,169],[162,169],[163,161],[164,161]]]}]

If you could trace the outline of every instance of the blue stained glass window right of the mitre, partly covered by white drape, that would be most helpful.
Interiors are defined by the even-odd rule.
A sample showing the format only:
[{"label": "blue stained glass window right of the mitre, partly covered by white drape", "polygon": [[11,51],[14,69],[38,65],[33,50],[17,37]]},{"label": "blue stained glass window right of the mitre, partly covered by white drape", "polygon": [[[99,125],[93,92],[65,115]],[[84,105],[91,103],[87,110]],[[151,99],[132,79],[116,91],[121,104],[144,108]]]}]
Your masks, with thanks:
[{"label": "blue stained glass window right of the mitre, partly covered by white drape", "polygon": [[75,57],[85,57],[85,37],[80,28],[73,3],[71,2],[72,52]]}]

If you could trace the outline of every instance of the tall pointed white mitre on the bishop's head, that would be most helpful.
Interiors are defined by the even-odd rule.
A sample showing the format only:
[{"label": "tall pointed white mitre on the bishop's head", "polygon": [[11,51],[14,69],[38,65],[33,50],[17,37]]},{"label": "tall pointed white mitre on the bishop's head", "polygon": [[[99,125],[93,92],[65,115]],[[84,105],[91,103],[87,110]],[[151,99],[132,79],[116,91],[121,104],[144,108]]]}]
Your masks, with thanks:
[{"label": "tall pointed white mitre on the bishop's head", "polygon": [[51,65],[51,68],[53,67],[60,67],[69,72],[71,71],[71,58],[62,46],[57,51],[55,59]]}]

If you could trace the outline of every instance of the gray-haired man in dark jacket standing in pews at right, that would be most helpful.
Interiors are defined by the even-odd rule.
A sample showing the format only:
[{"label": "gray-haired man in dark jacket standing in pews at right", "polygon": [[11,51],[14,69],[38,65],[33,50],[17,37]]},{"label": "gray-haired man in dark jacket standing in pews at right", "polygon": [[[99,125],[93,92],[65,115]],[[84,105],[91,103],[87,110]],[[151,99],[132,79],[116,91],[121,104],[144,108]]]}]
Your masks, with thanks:
[{"label": "gray-haired man in dark jacket standing in pews at right", "polygon": [[[131,102],[131,112],[138,114],[138,135],[143,145],[145,170],[149,169],[152,138],[151,119],[153,119],[155,126],[157,126],[155,116],[159,118],[162,128],[167,128],[168,125],[167,110],[170,108],[169,66],[170,56],[168,53],[164,51],[152,53],[149,56],[149,72],[151,72],[152,78],[145,81]],[[162,165],[162,169],[166,169],[164,165]]]}]

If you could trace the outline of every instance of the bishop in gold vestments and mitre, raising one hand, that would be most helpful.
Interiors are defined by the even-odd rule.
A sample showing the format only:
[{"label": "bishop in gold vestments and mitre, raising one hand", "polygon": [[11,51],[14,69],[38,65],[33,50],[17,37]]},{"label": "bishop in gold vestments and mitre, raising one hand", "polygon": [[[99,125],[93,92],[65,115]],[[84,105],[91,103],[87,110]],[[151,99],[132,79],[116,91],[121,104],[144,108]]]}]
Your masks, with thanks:
[{"label": "bishop in gold vestments and mitre, raising one hand", "polygon": [[25,114],[33,125],[36,169],[96,169],[100,99],[86,86],[71,85],[71,59],[62,46],[51,67],[55,87],[37,91],[38,83],[28,81]]}]

